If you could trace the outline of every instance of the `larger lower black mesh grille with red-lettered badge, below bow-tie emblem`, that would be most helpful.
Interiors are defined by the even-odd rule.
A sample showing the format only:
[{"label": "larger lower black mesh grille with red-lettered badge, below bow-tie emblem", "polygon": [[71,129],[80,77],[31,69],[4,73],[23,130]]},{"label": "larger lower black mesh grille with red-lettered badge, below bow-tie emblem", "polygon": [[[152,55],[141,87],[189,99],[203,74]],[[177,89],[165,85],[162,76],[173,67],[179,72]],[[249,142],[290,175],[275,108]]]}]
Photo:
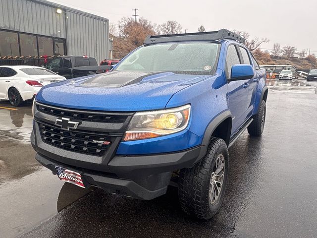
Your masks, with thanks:
[{"label": "larger lower black mesh grille with red-lettered badge, below bow-tie emblem", "polygon": [[[117,136],[109,133],[62,130],[53,125],[39,123],[42,140],[55,147],[78,153],[103,156]],[[108,145],[103,142],[110,142]]]}]

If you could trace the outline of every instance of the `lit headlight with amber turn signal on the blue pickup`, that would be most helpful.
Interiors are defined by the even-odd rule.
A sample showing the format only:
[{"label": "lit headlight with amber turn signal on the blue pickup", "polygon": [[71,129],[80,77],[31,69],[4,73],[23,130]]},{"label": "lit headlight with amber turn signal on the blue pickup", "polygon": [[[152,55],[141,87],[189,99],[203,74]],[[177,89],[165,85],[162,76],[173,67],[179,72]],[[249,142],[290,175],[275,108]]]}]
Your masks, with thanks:
[{"label": "lit headlight with amber turn signal on the blue pickup", "polygon": [[136,113],[130,121],[124,141],[154,138],[186,128],[190,105],[179,108]]}]

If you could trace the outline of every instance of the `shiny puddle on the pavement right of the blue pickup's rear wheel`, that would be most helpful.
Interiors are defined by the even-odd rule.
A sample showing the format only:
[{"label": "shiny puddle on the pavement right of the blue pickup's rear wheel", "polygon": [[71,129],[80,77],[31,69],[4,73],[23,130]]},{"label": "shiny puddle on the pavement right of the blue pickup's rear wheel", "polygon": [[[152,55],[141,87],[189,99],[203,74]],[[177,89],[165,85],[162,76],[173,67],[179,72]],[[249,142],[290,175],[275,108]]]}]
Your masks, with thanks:
[{"label": "shiny puddle on the pavement right of the blue pickup's rear wheel", "polygon": [[266,85],[276,92],[317,94],[316,87],[301,80],[266,80]]}]

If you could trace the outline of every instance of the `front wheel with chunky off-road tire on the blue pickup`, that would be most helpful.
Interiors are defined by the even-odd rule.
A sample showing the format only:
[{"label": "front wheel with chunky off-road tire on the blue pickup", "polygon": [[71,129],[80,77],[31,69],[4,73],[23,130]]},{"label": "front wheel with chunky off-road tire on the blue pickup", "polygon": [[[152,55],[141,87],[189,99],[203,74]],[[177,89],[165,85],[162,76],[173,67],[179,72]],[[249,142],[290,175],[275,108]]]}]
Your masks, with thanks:
[{"label": "front wheel with chunky off-road tire on the blue pickup", "polygon": [[182,169],[178,197],[183,211],[208,220],[220,208],[228,179],[229,153],[224,140],[213,137],[207,154],[191,169]]}]

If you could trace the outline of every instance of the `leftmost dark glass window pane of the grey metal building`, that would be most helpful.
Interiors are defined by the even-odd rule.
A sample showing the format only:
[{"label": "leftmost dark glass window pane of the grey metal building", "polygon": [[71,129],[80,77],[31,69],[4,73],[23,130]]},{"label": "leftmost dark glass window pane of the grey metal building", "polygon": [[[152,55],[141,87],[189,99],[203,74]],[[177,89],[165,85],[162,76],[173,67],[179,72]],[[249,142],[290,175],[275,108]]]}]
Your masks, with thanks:
[{"label": "leftmost dark glass window pane of the grey metal building", "polygon": [[18,34],[0,31],[0,57],[20,56]]}]

